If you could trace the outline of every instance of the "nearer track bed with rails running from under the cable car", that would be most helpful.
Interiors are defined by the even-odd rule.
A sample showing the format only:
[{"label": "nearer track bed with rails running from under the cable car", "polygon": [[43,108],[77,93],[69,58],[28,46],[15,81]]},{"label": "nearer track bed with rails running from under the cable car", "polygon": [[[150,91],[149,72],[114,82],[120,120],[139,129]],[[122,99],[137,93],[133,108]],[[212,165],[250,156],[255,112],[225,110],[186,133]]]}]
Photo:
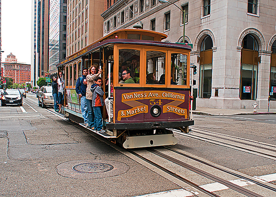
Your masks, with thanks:
[{"label": "nearer track bed with rails running from under the cable car", "polygon": [[[209,196],[232,196],[231,194],[240,196],[240,194],[243,194],[245,196],[260,197],[276,195],[276,186],[270,183],[263,183],[250,176],[242,175],[240,172],[219,167],[218,165],[187,155],[174,148],[150,148],[146,150],[150,152],[150,154],[144,150],[128,151],[143,161],[150,163]],[[243,182],[247,181],[247,188],[235,184],[237,181],[232,180],[234,177],[238,177]],[[227,191],[226,195],[221,195],[221,193],[217,194],[219,192],[216,193],[216,190],[210,191],[200,184],[201,182],[213,183],[213,181],[224,185],[225,188],[231,189],[231,191]],[[250,186],[254,191],[249,190]],[[257,193],[256,190],[259,193]],[[269,193],[269,195],[267,195],[267,193]]]}]

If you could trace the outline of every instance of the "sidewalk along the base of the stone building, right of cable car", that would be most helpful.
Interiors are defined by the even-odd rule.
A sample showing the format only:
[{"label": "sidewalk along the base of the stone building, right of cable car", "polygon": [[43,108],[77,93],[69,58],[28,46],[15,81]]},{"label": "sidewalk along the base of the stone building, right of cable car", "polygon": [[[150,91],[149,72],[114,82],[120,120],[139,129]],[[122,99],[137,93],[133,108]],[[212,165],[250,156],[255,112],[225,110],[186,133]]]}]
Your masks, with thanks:
[{"label": "sidewalk along the base of the stone building, right of cable car", "polygon": [[217,109],[209,107],[196,107],[192,111],[193,114],[210,115],[210,116],[225,116],[225,115],[245,115],[245,114],[276,114],[276,109],[257,109],[257,112],[253,112],[252,109]]}]

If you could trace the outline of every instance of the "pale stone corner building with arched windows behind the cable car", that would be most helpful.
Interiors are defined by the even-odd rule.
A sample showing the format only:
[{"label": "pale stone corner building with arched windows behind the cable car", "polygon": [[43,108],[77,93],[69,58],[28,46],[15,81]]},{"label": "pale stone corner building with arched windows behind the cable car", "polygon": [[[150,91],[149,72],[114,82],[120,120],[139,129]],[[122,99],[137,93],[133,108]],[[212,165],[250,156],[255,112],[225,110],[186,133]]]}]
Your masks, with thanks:
[{"label": "pale stone corner building with arched windows behind the cable car", "polygon": [[[125,2],[125,3],[124,3]],[[101,14],[103,35],[141,23],[168,35],[164,42],[192,44],[197,67],[196,106],[267,108],[276,98],[276,1],[117,1]],[[140,22],[139,22],[140,21]],[[276,101],[270,107],[276,108]]]}]

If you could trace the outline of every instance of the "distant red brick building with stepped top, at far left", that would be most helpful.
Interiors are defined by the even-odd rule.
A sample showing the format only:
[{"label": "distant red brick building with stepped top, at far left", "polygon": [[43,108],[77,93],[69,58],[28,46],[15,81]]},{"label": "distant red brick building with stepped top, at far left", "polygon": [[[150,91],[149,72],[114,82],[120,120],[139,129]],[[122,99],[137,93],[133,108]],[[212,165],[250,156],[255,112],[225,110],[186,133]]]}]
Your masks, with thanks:
[{"label": "distant red brick building with stepped top, at far left", "polygon": [[4,65],[4,77],[9,77],[13,79],[13,83],[24,84],[25,82],[30,82],[30,65],[25,63],[17,62],[15,56],[10,53]]}]

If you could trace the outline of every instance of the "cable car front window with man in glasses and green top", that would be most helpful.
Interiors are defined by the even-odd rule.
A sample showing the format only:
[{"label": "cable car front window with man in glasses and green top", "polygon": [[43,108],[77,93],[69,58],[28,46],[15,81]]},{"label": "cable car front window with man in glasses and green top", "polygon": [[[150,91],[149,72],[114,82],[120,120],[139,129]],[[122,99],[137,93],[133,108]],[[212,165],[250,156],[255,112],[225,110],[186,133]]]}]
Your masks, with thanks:
[{"label": "cable car front window with man in glasses and green top", "polygon": [[139,83],[140,51],[134,49],[119,50],[119,83]]}]

